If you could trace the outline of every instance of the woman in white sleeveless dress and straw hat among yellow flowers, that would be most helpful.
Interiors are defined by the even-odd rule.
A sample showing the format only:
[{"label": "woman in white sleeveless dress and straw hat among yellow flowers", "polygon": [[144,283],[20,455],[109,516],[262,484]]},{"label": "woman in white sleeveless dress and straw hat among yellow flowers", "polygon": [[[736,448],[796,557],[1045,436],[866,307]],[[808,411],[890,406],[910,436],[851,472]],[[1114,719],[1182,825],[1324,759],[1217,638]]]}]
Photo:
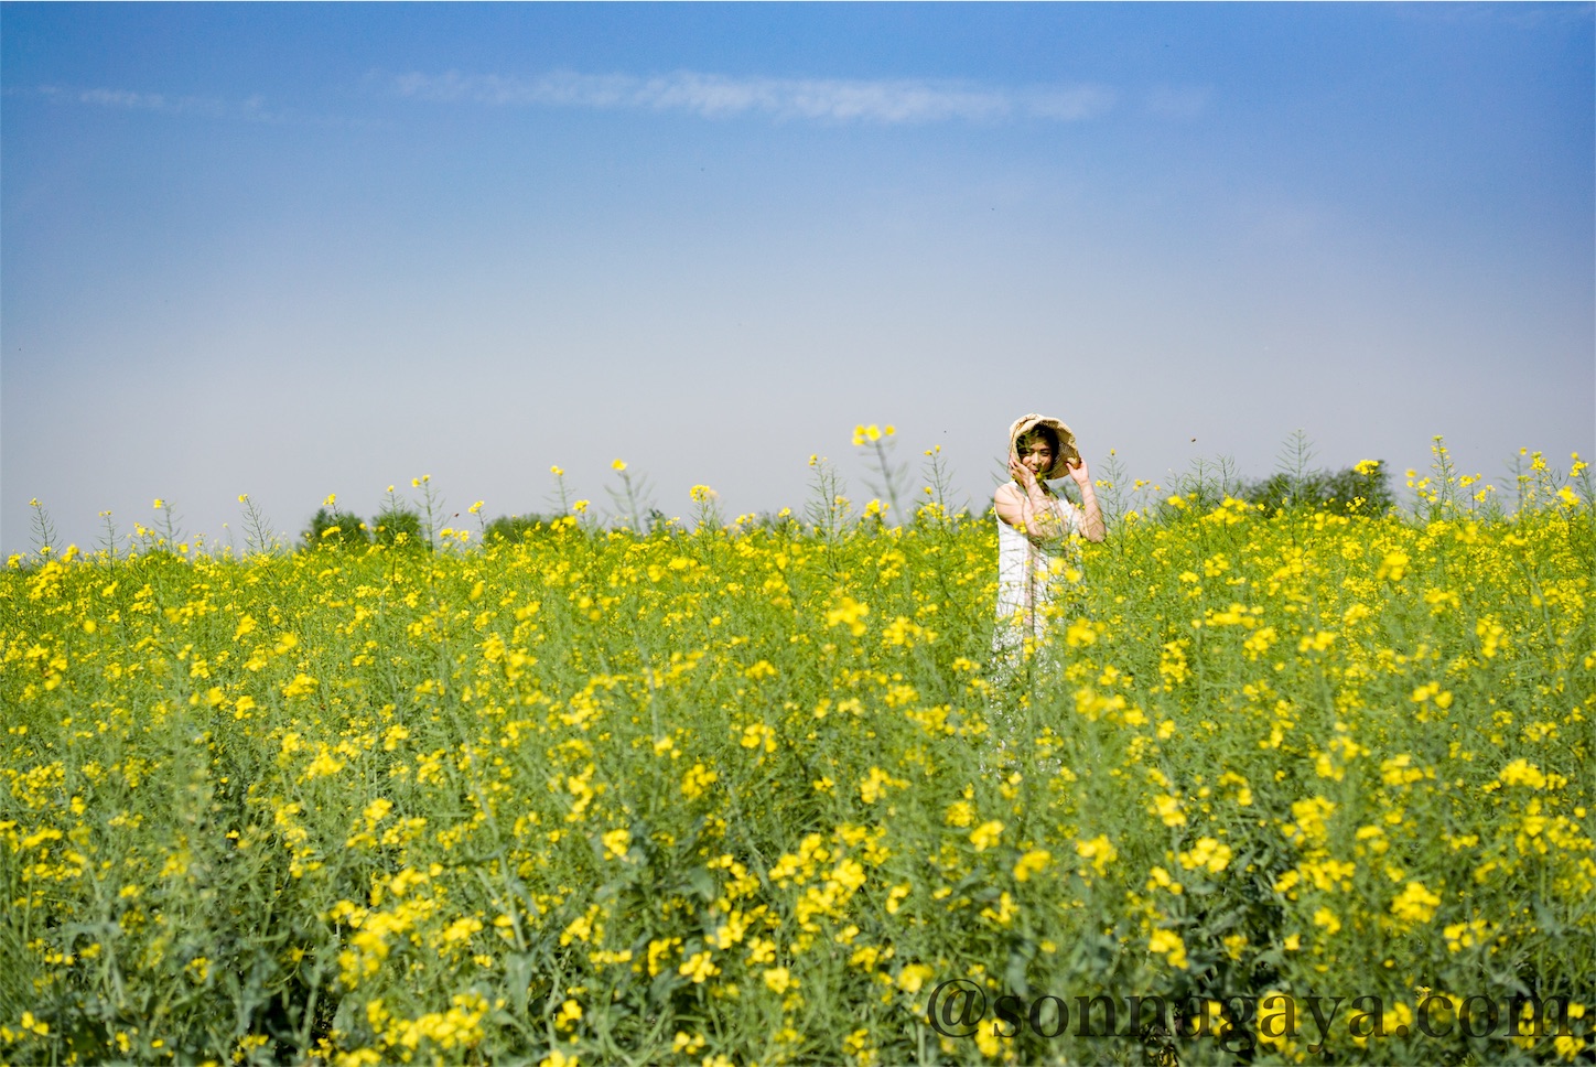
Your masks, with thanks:
[{"label": "woman in white sleeveless dress and straw hat among yellow flowers", "polygon": [[[1057,496],[1049,478],[1080,486],[1080,507]],[[1005,657],[1042,632],[1042,608],[1053,598],[1053,561],[1065,560],[1069,536],[1103,541],[1103,512],[1076,435],[1055,418],[1026,415],[1009,427],[1010,482],[998,486],[998,619],[994,651]]]}]

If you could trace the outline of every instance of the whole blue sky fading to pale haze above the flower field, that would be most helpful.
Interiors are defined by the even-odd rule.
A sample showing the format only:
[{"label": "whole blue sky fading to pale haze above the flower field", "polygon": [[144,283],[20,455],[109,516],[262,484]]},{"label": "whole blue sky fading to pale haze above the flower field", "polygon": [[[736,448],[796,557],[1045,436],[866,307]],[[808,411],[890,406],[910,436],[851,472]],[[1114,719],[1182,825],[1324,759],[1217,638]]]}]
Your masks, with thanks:
[{"label": "whole blue sky fading to pale haze above the flower field", "polygon": [[863,501],[857,423],[983,501],[1026,411],[1146,478],[1566,467],[1593,57],[1590,5],[5,3],[0,550],[616,458]]}]

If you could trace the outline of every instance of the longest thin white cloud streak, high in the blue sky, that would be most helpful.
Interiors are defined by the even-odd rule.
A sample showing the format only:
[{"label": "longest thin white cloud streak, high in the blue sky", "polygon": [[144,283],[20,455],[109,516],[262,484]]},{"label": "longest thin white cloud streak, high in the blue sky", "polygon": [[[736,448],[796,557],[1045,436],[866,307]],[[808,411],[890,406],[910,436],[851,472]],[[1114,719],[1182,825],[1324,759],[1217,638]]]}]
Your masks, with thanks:
[{"label": "longest thin white cloud streak, high in the blue sky", "polygon": [[394,94],[417,100],[496,107],[587,107],[688,112],[705,118],[768,115],[782,120],[915,124],[1010,118],[1080,121],[1106,112],[1114,96],[1101,86],[1001,89],[958,81],[731,78],[683,70],[638,78],[570,70],[536,77],[405,73]]}]

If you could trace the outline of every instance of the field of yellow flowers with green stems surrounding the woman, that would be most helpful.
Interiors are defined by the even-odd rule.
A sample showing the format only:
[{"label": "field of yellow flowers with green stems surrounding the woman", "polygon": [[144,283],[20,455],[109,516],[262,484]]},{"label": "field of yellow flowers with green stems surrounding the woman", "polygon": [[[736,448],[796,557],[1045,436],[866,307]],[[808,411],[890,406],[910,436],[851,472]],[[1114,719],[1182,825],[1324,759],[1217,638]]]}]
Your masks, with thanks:
[{"label": "field of yellow flowers with green stems surrounding the woman", "polygon": [[[1596,517],[1547,478],[1176,496],[1017,670],[935,504],[13,558],[0,1059],[1588,1062]],[[1060,1032],[1100,995],[1200,1013]]]}]

